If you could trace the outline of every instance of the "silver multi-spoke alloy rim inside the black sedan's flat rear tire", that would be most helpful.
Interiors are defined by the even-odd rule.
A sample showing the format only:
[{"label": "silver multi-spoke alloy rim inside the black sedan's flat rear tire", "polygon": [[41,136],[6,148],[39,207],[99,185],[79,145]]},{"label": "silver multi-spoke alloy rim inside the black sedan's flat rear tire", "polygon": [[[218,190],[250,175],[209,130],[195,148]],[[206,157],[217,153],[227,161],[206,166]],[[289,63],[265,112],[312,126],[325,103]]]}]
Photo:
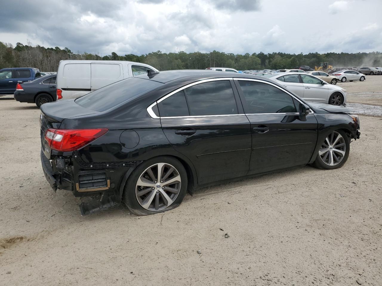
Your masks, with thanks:
[{"label": "silver multi-spoke alloy rim inside the black sedan's flat rear tire", "polygon": [[163,210],[178,197],[181,178],[170,164],[157,163],[148,167],[138,178],[135,194],[139,204],[147,210]]}]

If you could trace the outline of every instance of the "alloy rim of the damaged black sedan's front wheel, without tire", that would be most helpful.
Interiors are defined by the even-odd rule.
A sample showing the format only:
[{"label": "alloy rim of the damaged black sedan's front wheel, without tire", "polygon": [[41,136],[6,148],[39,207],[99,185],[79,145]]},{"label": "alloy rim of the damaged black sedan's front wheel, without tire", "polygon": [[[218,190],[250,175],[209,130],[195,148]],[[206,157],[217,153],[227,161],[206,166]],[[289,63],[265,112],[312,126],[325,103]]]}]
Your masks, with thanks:
[{"label": "alloy rim of the damaged black sedan's front wheel, without tire", "polygon": [[342,135],[336,131],[333,131],[325,138],[321,149],[318,151],[322,162],[329,166],[339,164],[343,160],[345,153],[345,140]]}]

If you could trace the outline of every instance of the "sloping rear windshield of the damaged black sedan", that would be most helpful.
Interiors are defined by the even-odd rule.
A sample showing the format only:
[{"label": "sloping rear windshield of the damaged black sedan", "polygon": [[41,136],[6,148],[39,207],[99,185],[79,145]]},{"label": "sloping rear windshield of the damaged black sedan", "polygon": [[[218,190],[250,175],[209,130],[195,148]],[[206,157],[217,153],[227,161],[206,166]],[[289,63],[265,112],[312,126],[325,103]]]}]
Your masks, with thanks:
[{"label": "sloping rear windshield of the damaged black sedan", "polygon": [[160,85],[162,84],[153,80],[129,77],[81,96],[75,101],[85,108],[102,112],[136,98]]}]

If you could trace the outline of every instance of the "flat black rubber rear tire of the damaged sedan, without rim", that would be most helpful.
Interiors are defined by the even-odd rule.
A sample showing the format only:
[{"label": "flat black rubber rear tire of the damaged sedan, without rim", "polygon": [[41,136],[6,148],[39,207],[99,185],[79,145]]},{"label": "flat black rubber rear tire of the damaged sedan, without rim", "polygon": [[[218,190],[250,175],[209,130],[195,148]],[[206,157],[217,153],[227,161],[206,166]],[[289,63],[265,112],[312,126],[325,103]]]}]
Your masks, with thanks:
[{"label": "flat black rubber rear tire of the damaged sedan, without rim", "polygon": [[[180,175],[180,178],[181,178],[180,191],[178,193],[178,196],[176,196],[175,200],[172,202],[172,204],[170,204],[165,209],[148,210],[142,207],[141,204],[138,202],[138,198],[136,194],[136,189],[137,189],[136,185],[137,185],[138,179],[145,172],[145,170],[147,170],[147,168],[149,168],[150,166],[158,164],[158,163],[169,164],[175,168],[176,172]],[[181,162],[179,162],[177,159],[173,157],[168,157],[168,156],[155,157],[155,158],[142,162],[131,173],[128,180],[126,181],[125,188],[123,191],[123,202],[125,202],[128,209],[135,215],[151,215],[151,214],[157,214],[160,212],[165,212],[167,210],[175,209],[181,204],[181,202],[183,201],[183,198],[186,195],[187,185],[188,185],[187,173],[186,173],[185,167],[183,167]],[[156,191],[156,192],[159,193],[159,191]],[[152,194],[152,193],[149,193],[149,194]]]}]

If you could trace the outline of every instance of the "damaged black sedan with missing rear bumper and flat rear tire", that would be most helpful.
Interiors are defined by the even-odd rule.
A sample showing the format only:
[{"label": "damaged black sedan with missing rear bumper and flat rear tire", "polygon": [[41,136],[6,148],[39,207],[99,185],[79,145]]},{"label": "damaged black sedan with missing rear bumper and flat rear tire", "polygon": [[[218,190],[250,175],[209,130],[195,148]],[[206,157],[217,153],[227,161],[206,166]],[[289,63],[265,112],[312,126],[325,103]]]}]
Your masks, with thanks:
[{"label": "damaged black sedan with missing rear bumper and flat rear tire", "polygon": [[307,103],[275,82],[212,71],[149,72],[41,107],[41,162],[54,190],[124,202],[137,215],[186,192],[312,164],[336,169],[359,138],[350,109]]}]

